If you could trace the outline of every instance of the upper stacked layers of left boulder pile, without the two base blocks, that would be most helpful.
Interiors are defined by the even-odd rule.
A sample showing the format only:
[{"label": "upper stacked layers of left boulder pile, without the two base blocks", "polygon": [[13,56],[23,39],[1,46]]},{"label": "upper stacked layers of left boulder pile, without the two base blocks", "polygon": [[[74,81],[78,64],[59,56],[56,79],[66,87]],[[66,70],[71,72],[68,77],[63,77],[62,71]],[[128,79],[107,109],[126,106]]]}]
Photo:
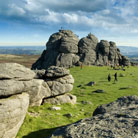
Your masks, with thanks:
[{"label": "upper stacked layers of left boulder pile, without the two base blocks", "polygon": [[63,95],[73,89],[74,79],[69,70],[62,67],[32,71],[17,63],[4,63],[0,64],[0,70],[0,97],[26,92],[30,106],[39,106],[44,98]]}]

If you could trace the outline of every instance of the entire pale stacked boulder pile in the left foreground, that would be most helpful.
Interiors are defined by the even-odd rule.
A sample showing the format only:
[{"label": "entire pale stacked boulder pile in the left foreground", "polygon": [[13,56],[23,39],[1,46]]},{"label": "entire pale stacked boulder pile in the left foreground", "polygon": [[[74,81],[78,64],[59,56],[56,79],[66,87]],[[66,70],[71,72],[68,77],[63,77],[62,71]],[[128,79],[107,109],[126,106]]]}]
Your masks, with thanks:
[{"label": "entire pale stacked boulder pile in the left foreground", "polygon": [[[0,138],[15,138],[28,106],[76,103],[74,78],[67,69],[30,70],[17,63],[0,64]],[[66,100],[67,99],[67,100]]]}]

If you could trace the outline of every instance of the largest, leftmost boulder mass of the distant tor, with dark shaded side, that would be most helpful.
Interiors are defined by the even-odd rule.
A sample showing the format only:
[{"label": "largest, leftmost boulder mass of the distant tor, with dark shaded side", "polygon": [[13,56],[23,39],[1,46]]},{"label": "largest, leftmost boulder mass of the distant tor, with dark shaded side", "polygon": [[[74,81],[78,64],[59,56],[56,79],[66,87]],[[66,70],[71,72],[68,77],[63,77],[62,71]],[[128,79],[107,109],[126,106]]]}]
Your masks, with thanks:
[{"label": "largest, leftmost boulder mass of the distant tor, with dark shaded side", "polygon": [[[79,61],[79,58],[75,55],[78,53],[78,42],[78,37],[70,30],[59,30],[59,32],[52,34],[46,44],[47,49],[32,65],[32,69],[47,69],[50,66],[73,66]],[[67,61],[68,63],[66,63]]]}]

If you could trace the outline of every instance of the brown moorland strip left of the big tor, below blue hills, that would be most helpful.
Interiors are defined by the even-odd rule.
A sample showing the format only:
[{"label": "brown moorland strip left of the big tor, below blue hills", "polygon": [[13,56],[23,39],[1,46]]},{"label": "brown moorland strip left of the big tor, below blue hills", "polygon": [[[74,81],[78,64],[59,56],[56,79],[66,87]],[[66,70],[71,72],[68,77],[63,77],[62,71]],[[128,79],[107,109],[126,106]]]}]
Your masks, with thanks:
[{"label": "brown moorland strip left of the big tor, below blue hills", "polygon": [[40,57],[40,55],[5,55],[0,54],[0,63],[19,63],[28,68]]}]

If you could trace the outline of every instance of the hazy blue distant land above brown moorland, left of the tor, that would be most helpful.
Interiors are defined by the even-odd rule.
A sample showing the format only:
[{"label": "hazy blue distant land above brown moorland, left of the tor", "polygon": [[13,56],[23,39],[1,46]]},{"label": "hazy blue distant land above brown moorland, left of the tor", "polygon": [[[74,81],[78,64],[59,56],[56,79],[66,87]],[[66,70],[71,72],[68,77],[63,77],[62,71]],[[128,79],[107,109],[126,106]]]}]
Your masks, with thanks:
[{"label": "hazy blue distant land above brown moorland, left of the tor", "polygon": [[0,46],[0,54],[40,55],[45,46]]}]

